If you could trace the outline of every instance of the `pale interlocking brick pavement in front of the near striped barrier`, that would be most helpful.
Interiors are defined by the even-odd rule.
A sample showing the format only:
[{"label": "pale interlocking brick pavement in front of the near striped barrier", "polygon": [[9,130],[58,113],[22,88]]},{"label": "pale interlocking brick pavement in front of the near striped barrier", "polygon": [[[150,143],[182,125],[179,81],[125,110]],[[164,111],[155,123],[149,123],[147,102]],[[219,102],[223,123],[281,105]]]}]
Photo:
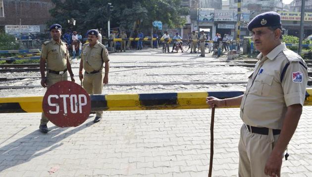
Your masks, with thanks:
[{"label": "pale interlocking brick pavement in front of the near striped barrier", "polygon": [[[312,107],[305,106],[282,177],[312,177]],[[76,128],[38,131],[41,114],[0,114],[1,177],[207,177],[210,110],[104,112]],[[217,109],[213,176],[238,172],[239,109]]]}]

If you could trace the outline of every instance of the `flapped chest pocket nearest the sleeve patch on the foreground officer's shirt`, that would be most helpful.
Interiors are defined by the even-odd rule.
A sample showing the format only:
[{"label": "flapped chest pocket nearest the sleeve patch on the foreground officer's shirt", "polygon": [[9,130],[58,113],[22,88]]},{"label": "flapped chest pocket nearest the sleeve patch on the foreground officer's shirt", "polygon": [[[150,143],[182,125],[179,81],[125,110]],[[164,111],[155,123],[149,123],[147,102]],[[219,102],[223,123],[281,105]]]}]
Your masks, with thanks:
[{"label": "flapped chest pocket nearest the sleeve patch on the foreground officer's shirt", "polygon": [[273,83],[274,77],[271,75],[260,74],[255,79],[253,92],[257,95],[268,96]]}]

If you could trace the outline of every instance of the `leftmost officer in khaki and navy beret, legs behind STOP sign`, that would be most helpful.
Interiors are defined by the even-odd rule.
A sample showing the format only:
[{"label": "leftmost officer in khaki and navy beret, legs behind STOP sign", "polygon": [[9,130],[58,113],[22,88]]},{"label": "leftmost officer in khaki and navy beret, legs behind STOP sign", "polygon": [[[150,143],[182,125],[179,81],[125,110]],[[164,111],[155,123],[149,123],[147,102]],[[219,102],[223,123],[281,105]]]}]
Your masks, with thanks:
[{"label": "leftmost officer in khaki and navy beret, legs behind STOP sign", "polygon": [[[67,81],[67,71],[70,74],[72,82],[75,82],[73,72],[69,62],[68,46],[60,40],[62,34],[62,26],[53,24],[50,27],[52,40],[45,42],[42,45],[40,56],[40,73],[41,85],[44,88],[50,88],[53,84],[59,81]],[[47,66],[45,64],[47,63]],[[45,69],[47,67],[47,76]],[[48,133],[47,124],[49,119],[42,113],[39,130],[42,133]]]}]

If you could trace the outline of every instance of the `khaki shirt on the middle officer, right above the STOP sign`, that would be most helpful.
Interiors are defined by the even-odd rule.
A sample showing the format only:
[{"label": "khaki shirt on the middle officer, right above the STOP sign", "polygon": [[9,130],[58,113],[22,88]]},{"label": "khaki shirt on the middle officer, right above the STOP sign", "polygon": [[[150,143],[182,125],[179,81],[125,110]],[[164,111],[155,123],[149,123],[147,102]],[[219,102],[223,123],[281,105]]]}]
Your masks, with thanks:
[{"label": "khaki shirt on the middle officer, right above the STOP sign", "polygon": [[[103,52],[101,53],[103,49]],[[103,57],[103,60],[102,60]],[[103,69],[103,63],[109,61],[106,47],[97,41],[93,47],[89,43],[82,46],[83,69],[88,73]]]}]

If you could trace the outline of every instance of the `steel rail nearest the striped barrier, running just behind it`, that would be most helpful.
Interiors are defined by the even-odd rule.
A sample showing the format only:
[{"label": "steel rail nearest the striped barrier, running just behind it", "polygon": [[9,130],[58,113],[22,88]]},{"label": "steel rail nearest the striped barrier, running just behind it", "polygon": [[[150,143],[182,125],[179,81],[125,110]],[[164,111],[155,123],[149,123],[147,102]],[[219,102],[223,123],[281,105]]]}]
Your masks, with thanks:
[{"label": "steel rail nearest the striped barrier, running just behind it", "polygon": [[[106,86],[157,86],[157,85],[211,85],[211,84],[247,84],[247,81],[217,81],[217,82],[171,82],[171,83],[128,83],[128,84],[108,84]],[[312,81],[308,81],[308,86],[312,86]],[[41,88],[42,86],[1,86],[0,89],[17,88]]]}]

